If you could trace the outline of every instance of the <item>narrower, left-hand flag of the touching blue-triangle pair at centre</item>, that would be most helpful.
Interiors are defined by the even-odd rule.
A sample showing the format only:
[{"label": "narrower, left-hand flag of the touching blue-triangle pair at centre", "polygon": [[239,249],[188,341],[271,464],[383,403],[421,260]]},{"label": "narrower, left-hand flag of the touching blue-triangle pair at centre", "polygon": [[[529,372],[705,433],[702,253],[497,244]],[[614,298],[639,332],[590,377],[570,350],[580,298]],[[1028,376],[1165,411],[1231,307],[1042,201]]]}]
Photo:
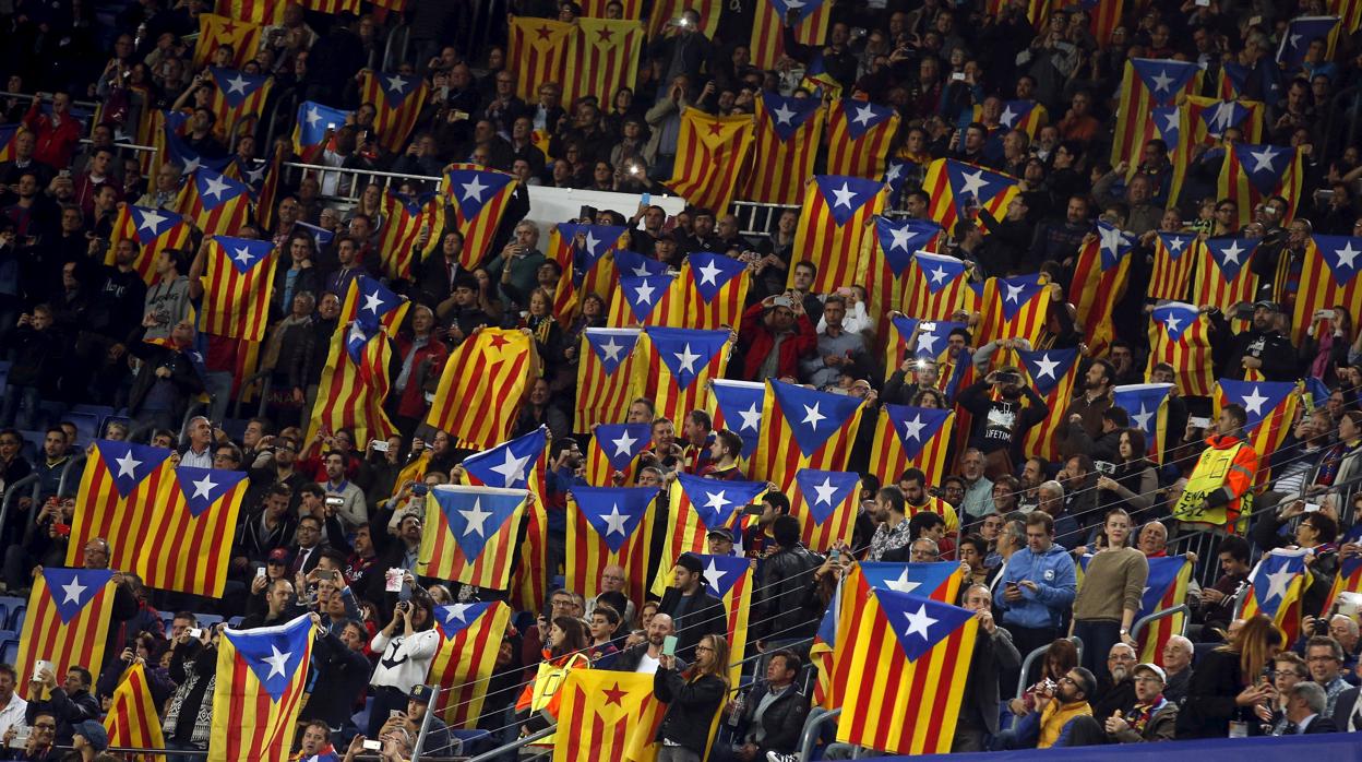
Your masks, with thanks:
[{"label": "narrower, left-hand flag of the touching blue-triangle pair at centre", "polygon": [[639,329],[587,329],[577,349],[573,431],[622,421],[633,402],[633,346]]}]

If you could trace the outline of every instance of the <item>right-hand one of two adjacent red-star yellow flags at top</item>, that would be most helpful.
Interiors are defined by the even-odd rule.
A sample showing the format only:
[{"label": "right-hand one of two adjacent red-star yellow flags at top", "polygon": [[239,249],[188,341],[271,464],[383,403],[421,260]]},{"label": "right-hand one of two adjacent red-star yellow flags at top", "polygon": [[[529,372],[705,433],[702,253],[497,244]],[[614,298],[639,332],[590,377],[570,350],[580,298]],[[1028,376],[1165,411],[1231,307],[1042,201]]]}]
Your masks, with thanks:
[{"label": "right-hand one of two adjacent red-star yellow flags at top", "polygon": [[643,55],[643,22],[577,18],[563,75],[564,102],[595,95],[602,104],[633,89]]}]

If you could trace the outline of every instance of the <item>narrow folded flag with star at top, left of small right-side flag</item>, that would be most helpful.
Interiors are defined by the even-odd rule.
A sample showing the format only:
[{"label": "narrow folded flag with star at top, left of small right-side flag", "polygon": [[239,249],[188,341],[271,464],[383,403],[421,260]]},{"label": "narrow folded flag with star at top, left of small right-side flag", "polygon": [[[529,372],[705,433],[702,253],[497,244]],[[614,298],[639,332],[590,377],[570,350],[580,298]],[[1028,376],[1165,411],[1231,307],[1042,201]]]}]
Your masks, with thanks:
[{"label": "narrow folded flag with star at top, left of small right-side flag", "polygon": [[1135,237],[1105,219],[1098,221],[1096,237],[1079,248],[1069,299],[1077,308],[1083,339],[1094,357],[1106,354],[1115,338],[1111,308],[1125,296],[1133,248]]}]

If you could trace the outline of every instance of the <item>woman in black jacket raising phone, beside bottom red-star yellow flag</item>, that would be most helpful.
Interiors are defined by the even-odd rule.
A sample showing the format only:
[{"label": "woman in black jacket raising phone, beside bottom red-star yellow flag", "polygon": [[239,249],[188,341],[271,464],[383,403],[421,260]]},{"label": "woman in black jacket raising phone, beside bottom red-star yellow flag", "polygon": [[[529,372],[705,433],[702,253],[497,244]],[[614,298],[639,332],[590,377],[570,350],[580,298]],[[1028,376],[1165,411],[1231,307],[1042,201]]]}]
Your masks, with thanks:
[{"label": "woman in black jacket raising phone, beside bottom red-star yellow flag", "polygon": [[700,762],[710,746],[710,722],[729,695],[729,642],[706,635],[695,646],[695,664],[677,669],[676,656],[658,658],[652,695],[667,705],[658,727],[658,762]]}]

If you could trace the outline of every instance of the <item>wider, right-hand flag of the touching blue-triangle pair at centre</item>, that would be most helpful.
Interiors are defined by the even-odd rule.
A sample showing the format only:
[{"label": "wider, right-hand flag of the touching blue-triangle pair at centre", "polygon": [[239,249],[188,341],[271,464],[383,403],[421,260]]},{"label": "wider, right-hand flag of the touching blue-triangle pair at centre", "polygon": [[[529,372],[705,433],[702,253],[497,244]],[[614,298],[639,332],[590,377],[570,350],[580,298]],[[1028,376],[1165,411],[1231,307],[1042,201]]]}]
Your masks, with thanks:
[{"label": "wider, right-hand flag of the touching blue-triangle pair at centre", "polygon": [[637,345],[636,397],[654,401],[658,414],[680,421],[703,410],[710,379],[723,376],[729,364],[729,331],[643,329]]}]

